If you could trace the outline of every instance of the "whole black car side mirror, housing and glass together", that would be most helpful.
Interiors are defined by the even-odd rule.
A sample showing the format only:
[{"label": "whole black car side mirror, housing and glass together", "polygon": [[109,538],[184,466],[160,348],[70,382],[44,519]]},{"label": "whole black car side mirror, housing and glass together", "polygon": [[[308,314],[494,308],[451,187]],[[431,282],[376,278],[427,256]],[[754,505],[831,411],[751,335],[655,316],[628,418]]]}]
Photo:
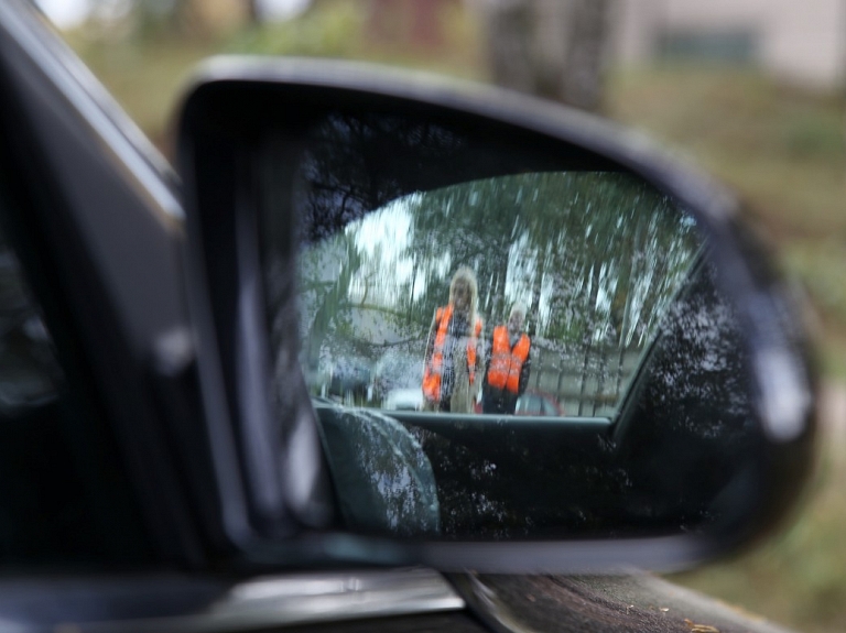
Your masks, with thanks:
[{"label": "whole black car side mirror, housing and glass together", "polygon": [[253,559],[668,568],[796,498],[814,382],[789,293],[735,197],[642,139],[224,58],[178,167],[220,533]]}]

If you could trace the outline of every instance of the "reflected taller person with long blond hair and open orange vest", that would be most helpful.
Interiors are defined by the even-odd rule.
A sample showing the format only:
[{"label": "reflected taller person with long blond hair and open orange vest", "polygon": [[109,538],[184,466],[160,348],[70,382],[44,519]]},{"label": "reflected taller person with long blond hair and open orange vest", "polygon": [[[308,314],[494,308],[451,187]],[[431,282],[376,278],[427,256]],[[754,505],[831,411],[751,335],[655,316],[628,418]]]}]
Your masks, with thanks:
[{"label": "reflected taller person with long blond hair and open orange vest", "polygon": [[449,283],[449,303],[435,310],[429,328],[423,369],[426,411],[474,411],[482,375],[477,297],[476,274],[458,269]]}]

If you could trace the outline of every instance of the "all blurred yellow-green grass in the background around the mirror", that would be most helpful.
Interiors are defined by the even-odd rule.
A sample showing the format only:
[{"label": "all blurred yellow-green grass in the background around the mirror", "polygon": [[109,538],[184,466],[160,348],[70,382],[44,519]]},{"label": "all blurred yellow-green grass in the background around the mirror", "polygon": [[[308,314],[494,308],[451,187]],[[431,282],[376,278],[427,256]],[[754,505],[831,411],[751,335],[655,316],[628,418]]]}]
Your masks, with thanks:
[{"label": "all blurred yellow-green grass in the background around the mirror", "polygon": [[[178,89],[213,53],[358,58],[485,80],[480,33],[466,14],[442,17],[443,41],[414,48],[398,34],[364,35],[349,2],[259,29],[205,39],[131,40],[84,32],[69,41],[129,113],[169,153]],[[779,86],[751,68],[616,69],[605,114],[642,130],[730,184],[804,288],[825,380],[846,383],[846,151],[842,96]],[[673,576],[751,612],[809,633],[846,630],[846,477],[843,436],[823,430],[821,468],[798,521],[745,555]],[[837,441],[840,444],[837,444]]]}]

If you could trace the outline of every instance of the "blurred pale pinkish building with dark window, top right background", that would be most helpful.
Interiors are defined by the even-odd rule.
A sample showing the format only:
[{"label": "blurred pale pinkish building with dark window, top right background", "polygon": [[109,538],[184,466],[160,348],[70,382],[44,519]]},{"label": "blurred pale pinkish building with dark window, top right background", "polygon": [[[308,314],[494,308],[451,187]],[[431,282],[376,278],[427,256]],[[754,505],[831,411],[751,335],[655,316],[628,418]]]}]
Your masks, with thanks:
[{"label": "blurred pale pinkish building with dark window, top right background", "polygon": [[618,0],[614,58],[756,65],[831,89],[846,80],[846,0]]}]

